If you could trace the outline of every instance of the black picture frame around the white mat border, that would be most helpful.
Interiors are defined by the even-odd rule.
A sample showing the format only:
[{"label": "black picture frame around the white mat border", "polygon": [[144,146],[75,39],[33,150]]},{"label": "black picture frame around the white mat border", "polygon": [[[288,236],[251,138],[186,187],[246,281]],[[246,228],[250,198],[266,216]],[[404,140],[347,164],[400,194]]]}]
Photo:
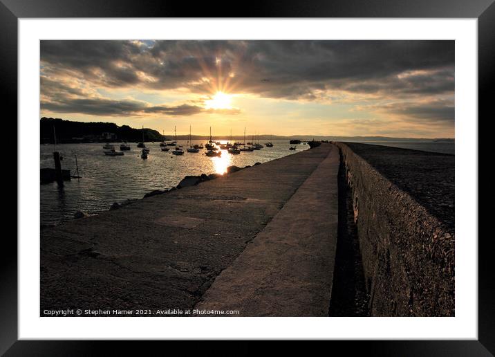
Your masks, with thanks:
[{"label": "black picture frame around the white mat border", "polygon": [[[495,66],[494,0],[339,0],[339,1],[251,1],[246,6],[223,1],[123,0],[0,0],[0,89],[4,119],[17,123],[17,20],[34,17],[422,17],[478,19],[478,117],[493,119],[492,97]],[[235,6],[236,5],[236,6]],[[7,111],[5,111],[7,109]],[[13,118],[16,118],[14,120]],[[478,118],[472,118],[475,120]],[[479,125],[478,120],[478,125]],[[13,135],[16,133],[17,135]],[[8,147],[17,146],[17,125],[8,131]],[[478,143],[481,139],[478,138]],[[480,154],[484,151],[479,147]],[[12,158],[12,161],[14,158]],[[17,157],[16,157],[17,159]],[[482,161],[478,161],[482,162]],[[17,167],[12,163],[11,167]],[[13,168],[9,170],[14,175]],[[17,171],[16,171],[17,172]],[[17,176],[17,174],[15,174]],[[479,175],[479,172],[478,172]],[[483,176],[478,176],[478,184]],[[13,182],[10,177],[10,182]],[[20,187],[17,187],[19,190]],[[16,204],[17,207],[17,204]],[[473,208],[475,209],[475,208]],[[10,210],[13,214],[22,214]],[[481,212],[481,210],[479,210]],[[12,214],[11,213],[11,214]],[[12,219],[14,217],[11,217]],[[478,219],[480,222],[483,219]],[[16,230],[17,232],[17,230]],[[495,284],[492,277],[492,235],[478,235],[478,340],[443,341],[332,341],[348,353],[360,351],[380,356],[492,356],[495,354]],[[0,354],[6,356],[92,356],[111,346],[127,353],[143,351],[143,342],[115,341],[19,341],[17,338],[17,234],[4,235],[0,248]],[[162,342],[153,342],[157,345]],[[169,342],[171,343],[171,342]],[[194,342],[210,349],[209,342]],[[205,345],[206,344],[206,345]],[[169,347],[167,347],[169,348]],[[259,345],[236,342],[236,354],[251,354]],[[261,347],[264,348],[264,347]],[[290,347],[292,351],[297,348]],[[306,347],[299,347],[306,349]],[[328,347],[326,347],[328,348]],[[333,348],[333,347],[331,347]],[[232,349],[227,349],[232,351]]]}]

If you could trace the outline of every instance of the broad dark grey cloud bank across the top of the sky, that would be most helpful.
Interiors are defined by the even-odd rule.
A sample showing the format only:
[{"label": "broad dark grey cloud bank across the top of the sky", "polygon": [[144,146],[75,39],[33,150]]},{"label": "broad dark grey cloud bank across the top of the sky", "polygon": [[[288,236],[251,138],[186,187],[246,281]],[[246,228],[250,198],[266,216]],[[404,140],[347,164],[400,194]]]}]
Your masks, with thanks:
[{"label": "broad dark grey cloud bank across the top of the sky", "polygon": [[[46,71],[64,68],[105,86],[202,92],[208,77],[217,89],[229,82],[271,98],[311,98],[313,91],[334,88],[441,93],[452,89],[454,42],[43,41],[41,61]],[[420,70],[436,75],[397,77]]]}]

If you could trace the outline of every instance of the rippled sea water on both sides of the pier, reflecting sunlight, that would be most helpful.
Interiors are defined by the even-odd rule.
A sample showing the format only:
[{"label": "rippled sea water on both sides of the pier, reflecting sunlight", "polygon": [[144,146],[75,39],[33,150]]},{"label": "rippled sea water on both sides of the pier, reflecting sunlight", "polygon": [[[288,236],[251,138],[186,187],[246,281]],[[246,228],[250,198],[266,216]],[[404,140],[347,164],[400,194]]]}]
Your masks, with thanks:
[{"label": "rippled sea water on both sides of the pier, reflecting sunlight", "polygon": [[[256,162],[265,163],[309,148],[308,145],[296,145],[294,152],[289,150],[291,145],[286,140],[273,143],[274,147],[239,155],[223,152],[219,158],[205,156],[204,149],[197,154],[185,152],[183,156],[174,156],[171,152],[161,152],[159,143],[148,143],[151,152],[147,160],[140,158],[140,149],[135,143],[130,144],[131,150],[124,152],[124,156],[105,156],[101,143],[58,145],[58,151],[64,156],[62,168],[75,174],[77,155],[82,178],[79,182],[74,178],[66,181],[63,188],[56,183],[40,186],[41,224],[57,224],[72,219],[80,210],[93,214],[108,210],[114,202],[141,199],[152,190],[176,186],[186,175],[223,173],[230,165],[243,167]],[[366,143],[454,154],[454,143],[447,142]],[[118,145],[115,148],[118,149]],[[40,167],[54,167],[53,145],[41,145],[40,160]]]}]

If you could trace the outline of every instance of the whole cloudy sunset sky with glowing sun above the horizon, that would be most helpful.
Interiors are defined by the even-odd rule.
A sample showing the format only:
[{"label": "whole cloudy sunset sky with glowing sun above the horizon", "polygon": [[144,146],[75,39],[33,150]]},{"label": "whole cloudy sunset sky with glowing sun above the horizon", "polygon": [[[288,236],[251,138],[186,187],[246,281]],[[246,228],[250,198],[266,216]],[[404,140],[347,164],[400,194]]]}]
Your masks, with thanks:
[{"label": "whole cloudy sunset sky with glowing sun above the horizon", "polygon": [[207,135],[454,138],[454,41],[41,41],[41,116]]}]

